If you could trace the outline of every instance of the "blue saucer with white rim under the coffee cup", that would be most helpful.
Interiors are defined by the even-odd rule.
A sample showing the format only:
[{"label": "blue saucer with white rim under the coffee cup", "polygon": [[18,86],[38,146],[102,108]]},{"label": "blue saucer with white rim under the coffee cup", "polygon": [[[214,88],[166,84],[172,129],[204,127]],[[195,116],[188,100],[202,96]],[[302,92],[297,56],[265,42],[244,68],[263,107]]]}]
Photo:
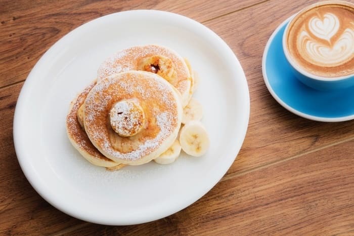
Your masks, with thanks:
[{"label": "blue saucer with white rim under the coffee cup", "polygon": [[305,86],[291,72],[282,45],[283,22],[265,46],[262,71],[272,96],[289,111],[309,120],[340,122],[354,119],[354,87],[339,91],[318,91]]}]

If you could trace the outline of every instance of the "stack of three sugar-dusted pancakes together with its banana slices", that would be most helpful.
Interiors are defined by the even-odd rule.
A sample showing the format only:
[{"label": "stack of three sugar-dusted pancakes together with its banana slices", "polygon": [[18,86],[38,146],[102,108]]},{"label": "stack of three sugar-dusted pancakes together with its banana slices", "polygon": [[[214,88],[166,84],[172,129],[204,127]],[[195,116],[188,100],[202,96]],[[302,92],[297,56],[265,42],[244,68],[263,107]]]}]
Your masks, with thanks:
[{"label": "stack of three sugar-dusted pancakes together with its banana slices", "polygon": [[152,160],[170,164],[181,149],[201,156],[209,138],[200,122],[202,106],[192,98],[197,82],[188,60],[171,49],[122,50],[71,102],[69,140],[87,161],[107,170]]}]

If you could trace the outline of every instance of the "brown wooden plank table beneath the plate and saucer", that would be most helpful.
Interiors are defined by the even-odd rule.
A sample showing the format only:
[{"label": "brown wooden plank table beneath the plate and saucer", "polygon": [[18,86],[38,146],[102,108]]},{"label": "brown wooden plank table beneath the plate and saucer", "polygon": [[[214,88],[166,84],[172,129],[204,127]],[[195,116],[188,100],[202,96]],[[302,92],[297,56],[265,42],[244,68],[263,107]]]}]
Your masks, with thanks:
[{"label": "brown wooden plank table beneath the plate and saucer", "polygon": [[[354,235],[354,121],[321,123],[280,106],[261,59],[273,30],[308,0],[0,1],[0,234]],[[195,19],[240,60],[251,113],[242,149],[222,180],[190,207],[131,226],[70,217],[43,200],[16,159],[16,100],[31,68],[59,38],[97,17],[158,9]]]}]

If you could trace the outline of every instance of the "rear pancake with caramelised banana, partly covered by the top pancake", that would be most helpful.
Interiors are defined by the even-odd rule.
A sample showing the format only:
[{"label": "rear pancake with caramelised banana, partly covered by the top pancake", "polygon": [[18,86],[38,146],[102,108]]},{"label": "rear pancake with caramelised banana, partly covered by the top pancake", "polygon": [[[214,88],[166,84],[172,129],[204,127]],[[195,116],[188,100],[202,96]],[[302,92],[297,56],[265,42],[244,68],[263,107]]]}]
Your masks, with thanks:
[{"label": "rear pancake with caramelised banana, partly covered by the top pancake", "polygon": [[188,104],[192,77],[185,60],[173,50],[158,45],[124,49],[101,64],[98,80],[128,70],[157,73],[180,92],[183,106]]}]

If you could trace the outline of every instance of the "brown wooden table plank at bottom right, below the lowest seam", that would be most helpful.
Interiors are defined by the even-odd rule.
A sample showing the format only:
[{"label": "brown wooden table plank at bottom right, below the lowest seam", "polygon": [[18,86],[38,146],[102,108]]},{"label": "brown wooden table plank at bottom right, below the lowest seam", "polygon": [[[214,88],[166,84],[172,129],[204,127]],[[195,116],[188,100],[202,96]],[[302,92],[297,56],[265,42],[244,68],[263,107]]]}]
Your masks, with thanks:
[{"label": "brown wooden table plank at bottom right, below the lowest seam", "polygon": [[91,224],[70,235],[353,235],[353,146],[351,140],[220,182],[200,201],[158,221]]}]

